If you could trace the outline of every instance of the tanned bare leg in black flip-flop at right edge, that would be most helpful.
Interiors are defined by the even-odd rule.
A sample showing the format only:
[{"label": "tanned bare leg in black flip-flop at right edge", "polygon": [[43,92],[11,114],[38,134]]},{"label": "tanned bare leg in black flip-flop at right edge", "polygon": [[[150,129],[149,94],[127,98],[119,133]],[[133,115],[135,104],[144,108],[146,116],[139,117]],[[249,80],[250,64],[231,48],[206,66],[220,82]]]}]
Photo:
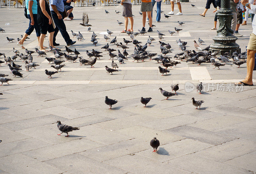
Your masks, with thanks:
[{"label": "tanned bare leg in black flip-flop at right edge", "polygon": [[[241,82],[244,82],[246,84],[252,84],[252,72],[254,68],[254,62],[255,62],[255,55],[256,51],[247,49],[247,75],[244,80]],[[240,82],[235,84],[241,84]]]}]

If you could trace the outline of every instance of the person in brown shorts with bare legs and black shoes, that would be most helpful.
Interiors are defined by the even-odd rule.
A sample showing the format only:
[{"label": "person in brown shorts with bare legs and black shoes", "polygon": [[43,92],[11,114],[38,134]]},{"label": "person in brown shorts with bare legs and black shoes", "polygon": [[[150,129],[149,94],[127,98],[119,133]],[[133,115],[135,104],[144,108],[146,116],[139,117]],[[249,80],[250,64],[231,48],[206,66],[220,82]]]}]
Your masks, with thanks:
[{"label": "person in brown shorts with bare legs and black shoes", "polygon": [[142,0],[140,11],[142,12],[142,29],[141,29],[141,31],[146,32],[145,24],[146,24],[146,18],[147,18],[147,14],[148,14],[148,21],[149,21],[148,32],[153,32],[152,16],[151,16],[151,13],[153,11],[153,5],[152,5],[151,0]]}]

